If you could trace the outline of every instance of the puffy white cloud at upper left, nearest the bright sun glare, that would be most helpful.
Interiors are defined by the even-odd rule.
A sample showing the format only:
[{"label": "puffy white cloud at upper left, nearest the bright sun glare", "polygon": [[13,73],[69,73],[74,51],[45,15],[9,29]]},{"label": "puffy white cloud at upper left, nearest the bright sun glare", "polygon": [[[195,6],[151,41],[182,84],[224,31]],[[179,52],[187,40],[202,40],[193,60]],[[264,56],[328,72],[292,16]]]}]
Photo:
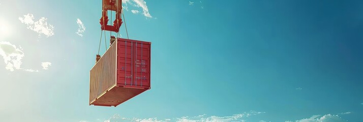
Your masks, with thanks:
[{"label": "puffy white cloud at upper left, nearest the bright sun glare", "polygon": [[37,32],[39,36],[41,36],[41,34],[44,34],[47,37],[54,35],[54,26],[48,24],[47,18],[45,17],[40,18],[38,21],[34,21],[33,14],[27,14],[24,15],[24,17],[19,17],[19,20],[21,21],[21,23],[25,23],[28,29]]}]

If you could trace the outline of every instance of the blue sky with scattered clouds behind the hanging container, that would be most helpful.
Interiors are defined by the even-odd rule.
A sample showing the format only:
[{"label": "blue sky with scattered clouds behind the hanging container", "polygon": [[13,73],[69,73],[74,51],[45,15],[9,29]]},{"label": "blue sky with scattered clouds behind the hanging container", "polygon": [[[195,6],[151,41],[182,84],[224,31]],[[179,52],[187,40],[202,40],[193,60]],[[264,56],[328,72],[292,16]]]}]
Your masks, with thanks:
[{"label": "blue sky with scattered clouds behind the hanging container", "polygon": [[101,1],[1,0],[0,121],[363,121],[363,1],[144,1],[152,89],[99,107]]}]

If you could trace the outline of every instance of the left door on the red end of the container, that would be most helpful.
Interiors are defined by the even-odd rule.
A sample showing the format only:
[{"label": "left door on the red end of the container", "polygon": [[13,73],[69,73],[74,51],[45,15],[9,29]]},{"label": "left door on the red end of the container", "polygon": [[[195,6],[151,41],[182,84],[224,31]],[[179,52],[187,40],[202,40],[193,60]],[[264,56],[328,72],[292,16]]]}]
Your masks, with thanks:
[{"label": "left door on the red end of the container", "polygon": [[117,50],[118,50],[118,56],[117,56],[117,74],[118,74],[118,80],[117,83],[124,84],[124,85],[131,85],[132,84],[132,43],[126,42],[126,41],[117,41]]}]

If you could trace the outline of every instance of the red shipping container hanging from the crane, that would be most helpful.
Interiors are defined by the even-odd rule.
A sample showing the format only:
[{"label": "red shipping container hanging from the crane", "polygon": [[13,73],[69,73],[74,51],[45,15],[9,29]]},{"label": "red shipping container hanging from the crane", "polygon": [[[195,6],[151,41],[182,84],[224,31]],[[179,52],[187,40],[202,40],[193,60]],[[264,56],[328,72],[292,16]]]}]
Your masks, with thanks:
[{"label": "red shipping container hanging from the crane", "polygon": [[117,38],[90,70],[89,105],[117,106],[150,89],[151,42]]}]

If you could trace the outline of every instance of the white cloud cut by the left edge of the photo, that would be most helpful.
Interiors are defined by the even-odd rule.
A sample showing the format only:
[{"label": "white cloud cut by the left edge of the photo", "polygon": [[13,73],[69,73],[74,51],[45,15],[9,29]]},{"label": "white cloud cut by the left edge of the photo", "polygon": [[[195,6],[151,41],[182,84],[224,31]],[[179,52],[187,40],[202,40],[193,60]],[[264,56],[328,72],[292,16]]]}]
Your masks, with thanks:
[{"label": "white cloud cut by the left edge of the photo", "polygon": [[5,69],[14,71],[21,69],[21,59],[24,57],[24,52],[10,42],[0,42],[0,55],[3,56]]}]

